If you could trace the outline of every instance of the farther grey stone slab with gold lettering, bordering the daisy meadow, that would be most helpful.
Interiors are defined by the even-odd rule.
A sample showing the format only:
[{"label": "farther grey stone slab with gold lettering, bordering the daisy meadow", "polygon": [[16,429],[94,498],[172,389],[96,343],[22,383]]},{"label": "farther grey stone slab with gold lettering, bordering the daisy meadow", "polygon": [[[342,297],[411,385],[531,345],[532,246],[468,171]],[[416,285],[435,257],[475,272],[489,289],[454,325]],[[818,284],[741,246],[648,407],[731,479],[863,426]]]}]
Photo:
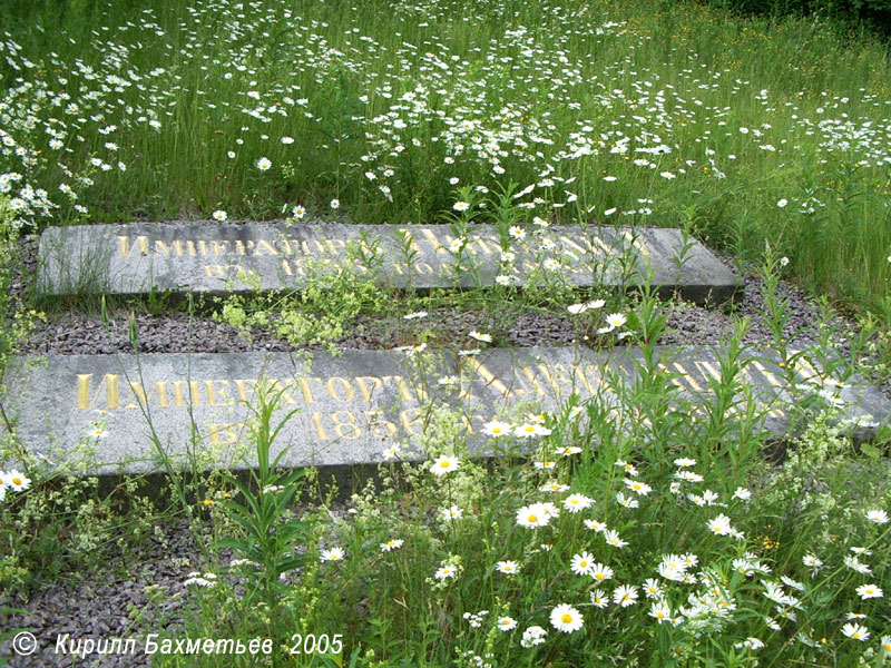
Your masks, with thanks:
[{"label": "farther grey stone slab with gold lettering, bordering the daisy meadow", "polygon": [[[555,226],[517,239],[507,232],[502,238],[490,225],[470,225],[463,238],[456,272],[454,230],[442,225],[53,227],[40,238],[40,287],[48,294],[248,293],[300,288],[335,267],[419,289],[492,286],[499,275],[512,276],[516,285],[620,286],[640,283],[647,266],[654,285],[693,302],[726,299],[740,285],[702,244],[676,229]],[[501,263],[502,248],[516,254],[512,263]]]}]

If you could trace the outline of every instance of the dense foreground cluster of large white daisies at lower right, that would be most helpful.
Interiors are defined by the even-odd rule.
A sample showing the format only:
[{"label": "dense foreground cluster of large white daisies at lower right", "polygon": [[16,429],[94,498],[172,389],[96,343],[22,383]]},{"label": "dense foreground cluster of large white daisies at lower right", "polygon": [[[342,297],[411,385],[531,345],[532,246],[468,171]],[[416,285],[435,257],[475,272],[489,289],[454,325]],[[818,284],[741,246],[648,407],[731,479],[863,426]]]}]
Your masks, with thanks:
[{"label": "dense foreground cluster of large white daisies at lower right", "polygon": [[[487,426],[493,438],[515,435],[515,428],[506,422],[493,421]],[[601,610],[614,610],[613,619],[617,612],[625,613],[628,623],[639,625],[648,620],[649,623],[678,629],[685,636],[699,637],[723,632],[740,623],[740,610],[761,609],[763,617],[758,632],[736,641],[737,649],[747,648],[752,651],[765,647],[777,637],[776,633],[794,629],[800,619],[809,613],[809,606],[813,605],[811,589],[816,590],[822,584],[817,587],[816,581],[802,580],[801,573],[794,569],[789,574],[774,573],[768,560],[754,551],[741,551],[734,547],[736,543],[747,544],[746,534],[736,529],[732,518],[744,512],[752,503],[751,490],[737,487],[716,493],[703,489],[706,477],[696,471],[696,459],[678,456],[674,459],[674,472],[663,485],[657,487],[644,481],[639,464],[616,460],[614,468],[620,471],[619,481],[624,491],[616,493],[615,504],[574,491],[570,484],[559,480],[540,482],[538,493],[545,498],[513,511],[513,523],[528,531],[529,542],[538,548],[526,549],[528,557],[522,560],[522,566],[518,552],[515,558],[497,561],[492,570],[518,581],[540,572],[541,563],[537,563],[537,560],[555,552],[555,543],[565,539],[565,531],[578,525],[575,519],[578,517],[580,524],[590,531],[589,537],[600,537],[599,542],[585,539],[582,549],[566,553],[564,568],[570,578],[588,583],[585,588],[587,595],[584,598],[578,595],[570,598],[568,591],[577,591],[578,588],[570,588],[562,598],[555,592],[557,598],[548,608],[547,618],[518,616],[515,609],[507,621],[499,621],[498,628],[503,631],[523,628],[520,646],[531,650],[548,642],[550,633],[585,633],[589,627],[604,623],[604,618],[598,617]],[[531,470],[541,473],[535,466]],[[701,549],[697,552],[664,552],[655,562],[635,563],[633,559],[620,557],[634,552],[635,542],[639,541],[639,536],[628,536],[626,539],[623,536],[625,532],[619,531],[621,525],[637,513],[646,512],[645,503],[652,502],[658,507],[665,502],[663,499],[669,502],[674,499],[677,508],[687,509],[691,518],[698,517],[694,521],[698,522]],[[715,508],[722,511],[715,513]],[[619,514],[616,514],[617,510]],[[863,514],[869,523],[878,527],[889,521],[881,509],[869,509]],[[610,528],[601,521],[599,518],[604,515],[613,518],[617,528]],[[554,542],[539,546],[545,533],[554,537],[550,539]],[[725,542],[726,539],[732,540]],[[852,548],[843,560],[850,571],[872,578],[846,586],[850,601],[881,600],[884,597],[883,588],[864,561],[870,554],[864,548]],[[802,566],[812,579],[824,568],[823,561],[813,554],[806,556]],[[458,573],[448,568],[435,574],[440,580],[452,577],[458,577]],[[486,627],[483,617],[480,613],[464,616],[473,628]],[[807,638],[807,633],[802,633],[803,638]],[[836,633],[839,637],[866,641],[872,631],[864,617],[849,616],[843,625],[839,625]]]}]

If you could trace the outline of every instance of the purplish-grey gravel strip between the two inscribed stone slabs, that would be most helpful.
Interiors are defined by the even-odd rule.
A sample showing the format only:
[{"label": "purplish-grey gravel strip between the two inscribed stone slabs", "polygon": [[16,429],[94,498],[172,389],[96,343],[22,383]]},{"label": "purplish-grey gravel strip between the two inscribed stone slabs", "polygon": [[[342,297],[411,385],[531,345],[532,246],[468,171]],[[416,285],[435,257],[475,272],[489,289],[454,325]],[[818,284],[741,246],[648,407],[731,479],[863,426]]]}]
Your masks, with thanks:
[{"label": "purplish-grey gravel strip between the two inscribed stone slabs", "polygon": [[[771,341],[767,327],[761,322],[764,304],[760,294],[761,281],[752,275],[743,277],[744,289],[733,302],[732,308],[740,316],[748,316],[752,327],[744,343],[758,344]],[[809,331],[815,322],[816,311],[801,291],[783,283],[781,295],[790,299],[791,316],[784,335],[794,345],[814,342]],[[725,343],[733,327],[725,308],[705,308],[682,302],[666,304],[668,326],[659,340],[665,345],[718,345]],[[129,341],[130,312],[110,314],[108,325],[98,316],[82,312],[66,311],[50,316],[47,323],[38,323],[25,345],[29,354],[112,354],[133,353]],[[503,317],[503,316],[502,316]],[[214,321],[207,315],[170,312],[161,315],[136,314],[139,352],[141,353],[235,353],[235,352],[284,352],[298,348],[321,350],[317,344],[294,346],[276,336],[271,327],[252,331],[245,338],[235,327]],[[843,324],[839,321],[836,324]],[[569,317],[539,311],[525,311],[512,315],[509,323],[499,322],[498,316],[482,311],[453,311],[435,308],[427,318],[405,322],[398,316],[359,316],[344,327],[345,334],[333,344],[339,348],[378,350],[392,348],[417,342],[423,330],[435,333],[440,344],[467,343],[472,330],[497,332],[499,343],[511,346],[569,345],[578,332]]]}]

